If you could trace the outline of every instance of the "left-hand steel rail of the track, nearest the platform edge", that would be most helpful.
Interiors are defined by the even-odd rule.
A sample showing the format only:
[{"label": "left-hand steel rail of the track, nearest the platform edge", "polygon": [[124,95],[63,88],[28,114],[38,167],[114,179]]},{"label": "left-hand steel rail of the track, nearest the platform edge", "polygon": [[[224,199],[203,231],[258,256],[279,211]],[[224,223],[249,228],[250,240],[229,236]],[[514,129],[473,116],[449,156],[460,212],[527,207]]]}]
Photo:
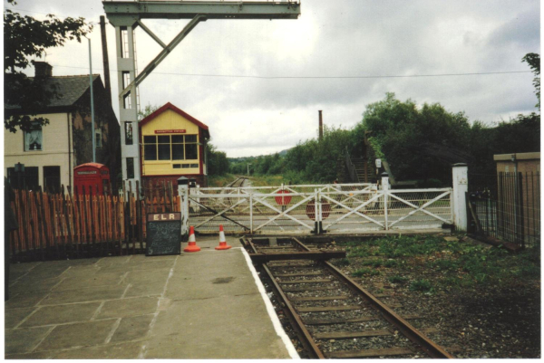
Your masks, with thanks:
[{"label": "left-hand steel rail of the track, nearest the platform edge", "polygon": [[[255,248],[255,244],[253,244],[249,239],[246,240],[246,242],[243,241],[243,238],[240,238],[240,242],[246,247],[249,248],[253,253],[257,253],[257,248]],[[267,277],[271,282],[271,287],[276,293],[277,298],[279,301],[283,304],[284,312],[287,315],[287,319],[291,322],[291,326],[296,332],[296,335],[298,336],[298,339],[308,352],[311,358],[319,358],[319,359],[325,359],[325,355],[319,349],[316,345],[316,341],[312,338],[310,335],[310,332],[306,329],[306,325],[296,312],[295,308],[287,299],[287,296],[285,292],[282,290],[282,288],[277,283],[276,279],[274,278],[274,275],[270,271],[270,269],[267,266],[267,263],[262,264],[263,270],[267,273]]]}]

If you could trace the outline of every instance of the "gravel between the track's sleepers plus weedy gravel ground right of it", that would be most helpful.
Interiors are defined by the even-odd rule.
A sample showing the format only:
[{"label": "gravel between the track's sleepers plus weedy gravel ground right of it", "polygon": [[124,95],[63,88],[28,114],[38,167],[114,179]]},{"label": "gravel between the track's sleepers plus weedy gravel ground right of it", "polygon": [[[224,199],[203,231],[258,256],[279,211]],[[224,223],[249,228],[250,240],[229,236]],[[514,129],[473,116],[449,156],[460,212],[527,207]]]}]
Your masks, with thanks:
[{"label": "gravel between the track's sleepers plus weedy gravel ground right of it", "polygon": [[[314,246],[312,246],[314,247]],[[342,249],[342,244],[316,244],[319,249]],[[454,258],[447,251],[435,253],[434,257]],[[433,257],[433,258],[434,258]],[[355,278],[365,289],[379,296],[381,301],[393,308],[401,316],[416,316],[410,323],[419,330],[433,329],[426,333],[429,338],[450,352],[455,358],[540,358],[540,282],[530,279],[519,279],[494,284],[480,284],[459,289],[433,289],[431,292],[412,291],[410,283],[425,279],[433,286],[441,276],[440,271],[425,266],[428,261],[425,256],[402,257],[411,266],[410,269],[393,267],[371,267],[368,258],[349,258],[349,265],[341,260],[333,260],[343,272],[353,276],[353,272],[370,268],[379,273],[373,276]],[[293,262],[293,264],[296,264]],[[405,265],[404,265],[405,266]],[[318,272],[316,265],[305,267],[275,267],[276,273]],[[392,283],[392,276],[402,276],[405,282]],[[278,281],[314,280],[328,276],[300,276],[296,278],[283,277]],[[289,320],[284,316],[282,307],[269,289],[265,280],[268,296],[271,297],[277,314],[294,342],[302,358],[307,358],[306,352],[290,328]],[[312,284],[312,286],[330,286],[330,283]],[[294,285],[284,284],[283,288]],[[300,287],[300,286],[298,286]],[[339,288],[325,291],[296,291],[287,292],[289,297],[303,296],[335,296],[350,295],[346,289]],[[316,305],[355,305],[357,299],[350,298],[342,301],[324,301],[309,303],[296,302],[296,306]],[[375,311],[364,302],[360,302],[362,310],[348,310],[335,312],[302,313],[304,319],[334,319],[334,318],[361,318],[374,317]],[[358,323],[337,324],[333,326],[310,326],[312,332],[330,331],[360,331],[364,329],[386,329],[383,321],[364,321]],[[385,337],[366,339],[324,339],[318,344],[324,352],[349,349],[377,349],[380,347],[403,347],[411,343],[399,334]],[[423,354],[414,353],[410,356],[395,358],[426,358]]]}]

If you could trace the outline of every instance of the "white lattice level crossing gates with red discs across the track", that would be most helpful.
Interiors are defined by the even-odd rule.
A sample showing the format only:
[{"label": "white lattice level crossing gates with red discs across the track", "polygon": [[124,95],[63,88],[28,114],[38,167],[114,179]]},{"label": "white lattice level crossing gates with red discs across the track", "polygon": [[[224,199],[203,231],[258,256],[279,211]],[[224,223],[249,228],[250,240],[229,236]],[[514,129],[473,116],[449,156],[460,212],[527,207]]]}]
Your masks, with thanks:
[{"label": "white lattice level crossing gates with red discs across the track", "polygon": [[453,224],[452,188],[373,184],[193,188],[189,224],[199,233],[356,234]]}]

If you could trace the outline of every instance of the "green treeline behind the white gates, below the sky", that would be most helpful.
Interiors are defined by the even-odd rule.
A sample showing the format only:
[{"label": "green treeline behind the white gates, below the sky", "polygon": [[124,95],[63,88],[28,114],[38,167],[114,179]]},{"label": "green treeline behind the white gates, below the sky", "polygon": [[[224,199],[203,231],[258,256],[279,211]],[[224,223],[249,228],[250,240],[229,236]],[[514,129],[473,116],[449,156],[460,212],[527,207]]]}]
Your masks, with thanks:
[{"label": "green treeline behind the white gates, below the sky", "polygon": [[[221,170],[245,175],[283,175],[291,183],[332,182],[337,177],[337,160],[350,155],[360,157],[365,131],[374,157],[387,160],[397,180],[433,180],[451,183],[451,164],[465,162],[471,170],[492,174],[494,154],[540,150],[540,115],[531,113],[494,125],[469,122],[463,112],[450,112],[440,103],[418,107],[414,100],[397,100],[387,93],[384,100],[366,106],[363,119],[353,129],[327,128],[324,137],[299,142],[279,154],[230,160],[210,171]],[[218,154],[218,152],[215,152]],[[224,154],[224,153],[219,153]],[[219,159],[219,158],[218,158]],[[371,160],[372,161],[372,160]],[[219,164],[221,167],[219,167]]]}]

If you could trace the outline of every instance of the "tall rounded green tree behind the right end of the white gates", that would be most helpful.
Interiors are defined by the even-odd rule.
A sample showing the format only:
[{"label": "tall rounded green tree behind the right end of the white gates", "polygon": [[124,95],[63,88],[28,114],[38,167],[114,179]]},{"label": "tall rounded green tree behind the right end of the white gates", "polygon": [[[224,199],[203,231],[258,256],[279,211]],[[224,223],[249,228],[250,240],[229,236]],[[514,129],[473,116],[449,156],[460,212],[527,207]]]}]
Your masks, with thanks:
[{"label": "tall rounded green tree behind the right end of the white gates", "polygon": [[359,144],[366,130],[398,180],[435,178],[448,183],[450,164],[471,161],[466,152],[469,120],[463,112],[449,112],[439,103],[418,107],[413,100],[403,102],[387,93],[385,100],[366,107],[355,127]]}]

